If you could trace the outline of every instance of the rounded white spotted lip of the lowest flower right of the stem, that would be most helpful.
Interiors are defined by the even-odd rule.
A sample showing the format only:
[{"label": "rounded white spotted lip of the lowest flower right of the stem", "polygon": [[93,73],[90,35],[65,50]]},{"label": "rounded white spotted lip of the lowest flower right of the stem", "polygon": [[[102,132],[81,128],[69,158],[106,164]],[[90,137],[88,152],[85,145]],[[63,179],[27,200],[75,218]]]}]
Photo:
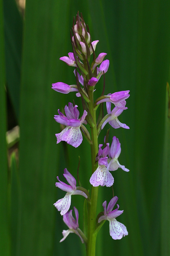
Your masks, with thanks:
[{"label": "rounded white spotted lip of the lowest flower right of the stem", "polygon": [[110,236],[113,239],[121,239],[123,236],[128,235],[126,227],[116,219],[109,220]]}]

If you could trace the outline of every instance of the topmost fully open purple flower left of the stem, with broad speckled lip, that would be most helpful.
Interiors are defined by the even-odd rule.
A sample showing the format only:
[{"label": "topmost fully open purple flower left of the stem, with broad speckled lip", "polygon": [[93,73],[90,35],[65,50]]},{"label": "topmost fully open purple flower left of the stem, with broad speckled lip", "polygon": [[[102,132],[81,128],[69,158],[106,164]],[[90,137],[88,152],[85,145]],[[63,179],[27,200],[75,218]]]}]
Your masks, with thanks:
[{"label": "topmost fully open purple flower left of the stem, with broad speckled lip", "polygon": [[66,105],[64,108],[66,116],[64,116],[64,114],[61,113],[59,109],[59,115],[54,116],[54,119],[57,123],[66,126],[62,132],[55,134],[57,138],[57,144],[63,140],[71,146],[77,148],[82,143],[83,136],[80,131],[80,126],[81,124],[87,124],[87,122],[85,121],[87,111],[84,110],[83,116],[78,119],[79,111],[77,107],[77,105],[73,107],[73,104],[69,102],[68,107]]}]

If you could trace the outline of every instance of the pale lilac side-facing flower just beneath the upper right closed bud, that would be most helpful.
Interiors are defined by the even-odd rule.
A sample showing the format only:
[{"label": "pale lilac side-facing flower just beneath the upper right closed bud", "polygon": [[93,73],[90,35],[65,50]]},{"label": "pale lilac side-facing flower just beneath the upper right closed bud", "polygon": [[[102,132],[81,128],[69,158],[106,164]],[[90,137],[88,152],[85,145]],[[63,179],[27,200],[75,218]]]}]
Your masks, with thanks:
[{"label": "pale lilac side-facing flower just beneath the upper right closed bud", "polygon": [[111,104],[112,104],[111,102],[106,102],[107,113],[109,115],[107,119],[104,121],[104,123],[102,124],[101,129],[103,129],[107,123],[109,123],[115,129],[120,127],[129,129],[129,126],[127,126],[126,124],[122,124],[117,118],[123,112],[123,109],[115,107],[111,112]]}]

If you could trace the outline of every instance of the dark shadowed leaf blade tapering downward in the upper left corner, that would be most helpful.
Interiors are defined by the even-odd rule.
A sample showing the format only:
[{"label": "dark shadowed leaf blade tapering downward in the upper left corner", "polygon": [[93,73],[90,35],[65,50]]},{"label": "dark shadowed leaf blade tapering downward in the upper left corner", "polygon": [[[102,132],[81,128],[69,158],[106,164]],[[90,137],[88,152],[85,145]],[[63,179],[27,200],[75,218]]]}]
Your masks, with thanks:
[{"label": "dark shadowed leaf blade tapering downward in the upper left corner", "polygon": [[22,27],[23,22],[16,1],[4,0],[6,80],[17,119],[19,118]]}]

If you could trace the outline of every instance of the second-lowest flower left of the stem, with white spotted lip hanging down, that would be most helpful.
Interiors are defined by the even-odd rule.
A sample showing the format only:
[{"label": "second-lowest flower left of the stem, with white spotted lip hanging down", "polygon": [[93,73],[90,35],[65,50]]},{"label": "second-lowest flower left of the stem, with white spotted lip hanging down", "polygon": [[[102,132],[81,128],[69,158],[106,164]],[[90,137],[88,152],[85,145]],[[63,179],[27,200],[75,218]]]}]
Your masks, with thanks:
[{"label": "second-lowest flower left of the stem, with white spotted lip hanging down", "polygon": [[76,187],[76,179],[71,175],[71,173],[65,168],[64,169],[64,178],[68,181],[70,185],[67,185],[63,181],[60,181],[58,176],[57,180],[59,182],[55,183],[55,186],[62,189],[63,191],[66,191],[66,195],[59,199],[54,206],[57,208],[58,211],[61,211],[60,214],[64,215],[66,212],[68,212],[71,204],[71,196],[72,195],[82,195],[85,198],[87,198],[87,195],[83,192],[77,189]]}]

